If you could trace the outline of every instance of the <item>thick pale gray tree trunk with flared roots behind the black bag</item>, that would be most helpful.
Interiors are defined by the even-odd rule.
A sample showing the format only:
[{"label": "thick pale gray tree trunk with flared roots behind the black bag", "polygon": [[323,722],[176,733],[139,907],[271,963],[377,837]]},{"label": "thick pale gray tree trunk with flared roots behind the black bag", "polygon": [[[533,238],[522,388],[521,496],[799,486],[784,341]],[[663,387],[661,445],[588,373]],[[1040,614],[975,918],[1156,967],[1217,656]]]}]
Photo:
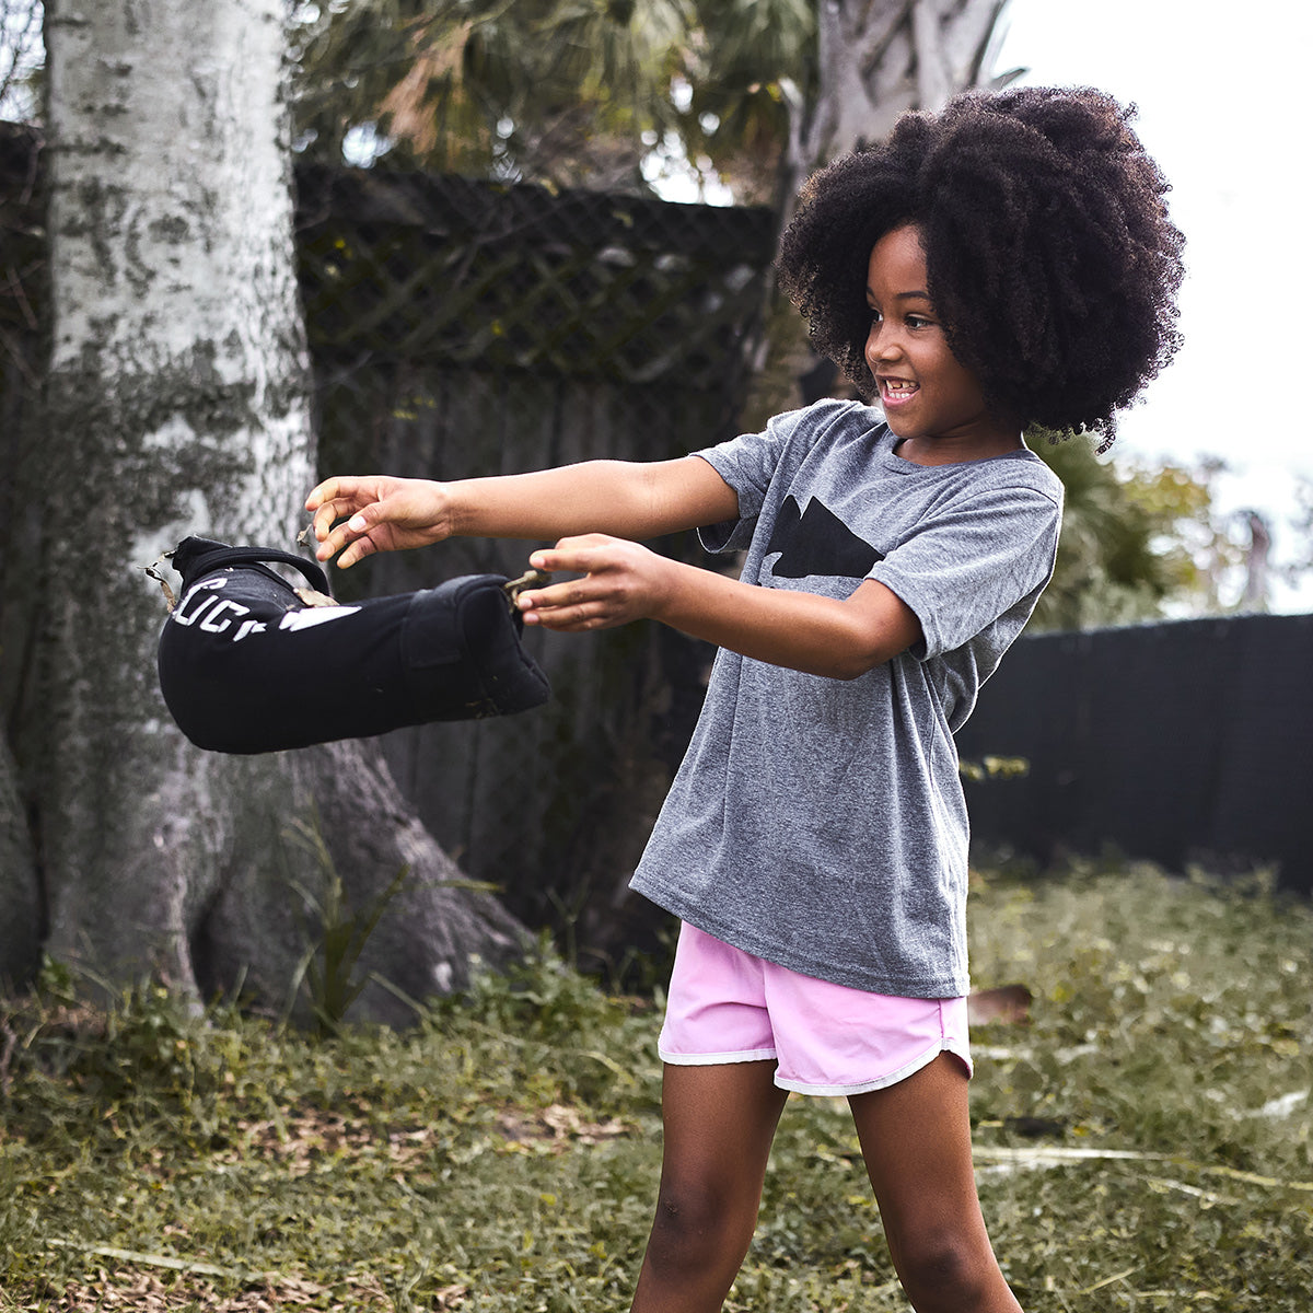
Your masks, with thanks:
[{"label": "thick pale gray tree trunk with flared roots behind the black bag", "polygon": [[[410,995],[519,927],[406,810],[378,754],[192,748],[159,695],[142,572],[188,533],[288,548],[314,482],[280,0],[51,0],[51,353],[37,781],[49,951],[281,1006],[328,863],[347,914],[410,880],[361,970]],[[295,892],[299,888],[311,895]],[[319,893],[316,893],[316,890]],[[322,901],[322,899],[320,899]],[[376,989],[364,1010],[404,1007]]]}]

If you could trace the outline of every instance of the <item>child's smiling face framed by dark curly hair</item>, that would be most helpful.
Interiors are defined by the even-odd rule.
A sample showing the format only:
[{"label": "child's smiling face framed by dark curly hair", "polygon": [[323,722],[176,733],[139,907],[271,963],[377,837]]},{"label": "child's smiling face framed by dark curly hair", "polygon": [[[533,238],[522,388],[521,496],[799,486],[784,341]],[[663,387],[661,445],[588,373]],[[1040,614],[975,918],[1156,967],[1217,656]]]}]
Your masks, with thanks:
[{"label": "child's smiling face framed by dark curly hair", "polygon": [[898,454],[919,465],[999,456],[1022,446],[1015,424],[985,404],[976,376],[948,349],[930,293],[915,225],[886,232],[871,252],[867,364]]}]

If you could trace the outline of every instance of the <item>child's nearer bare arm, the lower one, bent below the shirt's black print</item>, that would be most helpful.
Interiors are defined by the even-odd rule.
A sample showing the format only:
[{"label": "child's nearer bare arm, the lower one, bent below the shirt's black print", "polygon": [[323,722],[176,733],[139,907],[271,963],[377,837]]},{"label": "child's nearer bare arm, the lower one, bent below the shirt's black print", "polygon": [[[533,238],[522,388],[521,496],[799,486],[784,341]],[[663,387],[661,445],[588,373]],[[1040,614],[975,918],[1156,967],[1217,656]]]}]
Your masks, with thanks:
[{"label": "child's nearer bare arm, the lower one, bent below the shirt's black print", "polygon": [[600,533],[566,538],[529,562],[583,574],[520,595],[525,622],[548,629],[609,629],[646,616],[744,656],[832,679],[855,679],[922,637],[916,613],[874,579],[839,601],[741,583]]}]

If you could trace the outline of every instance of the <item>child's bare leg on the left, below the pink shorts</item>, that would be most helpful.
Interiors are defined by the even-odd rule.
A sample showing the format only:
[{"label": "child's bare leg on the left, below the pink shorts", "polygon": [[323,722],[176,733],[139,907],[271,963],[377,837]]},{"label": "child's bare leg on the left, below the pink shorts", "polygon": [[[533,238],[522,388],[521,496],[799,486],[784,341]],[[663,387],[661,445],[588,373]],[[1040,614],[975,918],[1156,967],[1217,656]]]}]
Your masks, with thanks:
[{"label": "child's bare leg on the left, below the pink shorts", "polygon": [[634,1313],[716,1313],[756,1228],[788,1094],[775,1062],[667,1066],[660,1191]]}]

